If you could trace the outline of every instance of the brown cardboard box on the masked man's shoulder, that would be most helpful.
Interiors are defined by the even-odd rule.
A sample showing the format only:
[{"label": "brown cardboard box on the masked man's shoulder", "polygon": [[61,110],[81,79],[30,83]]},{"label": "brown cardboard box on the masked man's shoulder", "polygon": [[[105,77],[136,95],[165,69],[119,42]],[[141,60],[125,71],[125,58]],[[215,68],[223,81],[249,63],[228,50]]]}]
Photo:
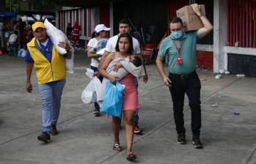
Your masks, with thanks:
[{"label": "brown cardboard box on the masked man's shoulder", "polygon": [[[200,7],[200,11],[205,15],[205,5],[201,4]],[[185,31],[193,31],[203,27],[200,17],[194,13],[190,5],[180,8],[176,13],[182,19]]]}]

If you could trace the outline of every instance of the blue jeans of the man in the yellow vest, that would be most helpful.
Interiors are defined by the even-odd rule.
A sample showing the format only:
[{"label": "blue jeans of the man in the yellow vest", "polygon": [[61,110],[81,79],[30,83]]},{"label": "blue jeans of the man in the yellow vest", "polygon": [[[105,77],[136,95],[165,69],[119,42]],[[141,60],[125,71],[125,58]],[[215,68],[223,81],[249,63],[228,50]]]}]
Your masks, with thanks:
[{"label": "blue jeans of the man in the yellow vest", "polygon": [[50,133],[51,125],[57,124],[59,119],[62,90],[66,80],[39,84],[42,104],[42,131]]}]

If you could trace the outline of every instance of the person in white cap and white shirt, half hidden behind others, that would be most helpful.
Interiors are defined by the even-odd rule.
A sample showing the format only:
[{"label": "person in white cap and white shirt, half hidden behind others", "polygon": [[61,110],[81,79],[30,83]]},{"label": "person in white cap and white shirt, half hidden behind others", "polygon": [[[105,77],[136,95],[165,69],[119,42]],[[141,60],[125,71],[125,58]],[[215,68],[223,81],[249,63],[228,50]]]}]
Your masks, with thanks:
[{"label": "person in white cap and white shirt, half hidden behind others", "polygon": [[[98,46],[98,41],[102,38],[106,38],[108,36],[108,31],[110,28],[107,28],[104,24],[98,24],[95,26],[95,37],[89,40],[87,44],[87,56],[91,59],[90,68],[95,72],[95,75],[98,76],[100,81],[102,81],[102,77],[98,75],[98,66],[99,66],[99,60],[98,58],[100,55],[97,53],[92,53],[92,49],[96,48]],[[94,103],[95,110],[93,114],[95,116],[100,116],[100,105],[98,105],[97,102]]]}]

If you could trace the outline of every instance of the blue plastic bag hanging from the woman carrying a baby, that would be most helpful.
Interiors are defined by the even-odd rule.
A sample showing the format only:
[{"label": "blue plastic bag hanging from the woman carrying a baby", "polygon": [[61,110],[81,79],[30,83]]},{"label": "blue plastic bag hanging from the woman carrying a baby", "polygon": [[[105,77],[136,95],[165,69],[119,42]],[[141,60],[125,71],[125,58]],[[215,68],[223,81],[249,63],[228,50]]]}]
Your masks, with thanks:
[{"label": "blue plastic bag hanging from the woman carrying a baby", "polygon": [[100,108],[102,113],[121,118],[123,89],[125,87],[118,81],[115,84],[110,81],[106,84],[106,94]]}]

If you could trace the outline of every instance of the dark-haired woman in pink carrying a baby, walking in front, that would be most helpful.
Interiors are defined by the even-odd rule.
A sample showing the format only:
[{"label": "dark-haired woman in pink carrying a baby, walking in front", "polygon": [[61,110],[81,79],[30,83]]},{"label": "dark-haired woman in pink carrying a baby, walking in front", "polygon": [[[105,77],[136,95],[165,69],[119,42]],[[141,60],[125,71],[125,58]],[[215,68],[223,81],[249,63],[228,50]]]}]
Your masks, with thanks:
[{"label": "dark-haired woman in pink carrying a baby, walking in front", "polygon": [[[117,40],[116,52],[109,53],[106,56],[106,59],[103,61],[103,64],[100,67],[100,75],[103,75],[104,78],[108,78],[112,83],[117,81],[114,75],[109,75],[106,72],[106,68],[109,63],[116,58],[127,58],[133,54],[133,42],[132,37],[128,33],[120,34]],[[118,69],[118,68],[117,68]],[[126,146],[127,146],[127,160],[135,160],[136,154],[132,152],[132,144],[134,141],[134,114],[136,108],[139,108],[138,92],[135,85],[135,76],[128,73],[124,78],[120,80],[120,83],[125,85],[125,90],[123,93],[123,119],[125,122],[125,136],[126,136]],[[119,131],[120,131],[120,118],[112,117],[112,130],[114,133],[114,146],[113,150],[120,152],[122,147],[120,146],[119,140]]]}]

